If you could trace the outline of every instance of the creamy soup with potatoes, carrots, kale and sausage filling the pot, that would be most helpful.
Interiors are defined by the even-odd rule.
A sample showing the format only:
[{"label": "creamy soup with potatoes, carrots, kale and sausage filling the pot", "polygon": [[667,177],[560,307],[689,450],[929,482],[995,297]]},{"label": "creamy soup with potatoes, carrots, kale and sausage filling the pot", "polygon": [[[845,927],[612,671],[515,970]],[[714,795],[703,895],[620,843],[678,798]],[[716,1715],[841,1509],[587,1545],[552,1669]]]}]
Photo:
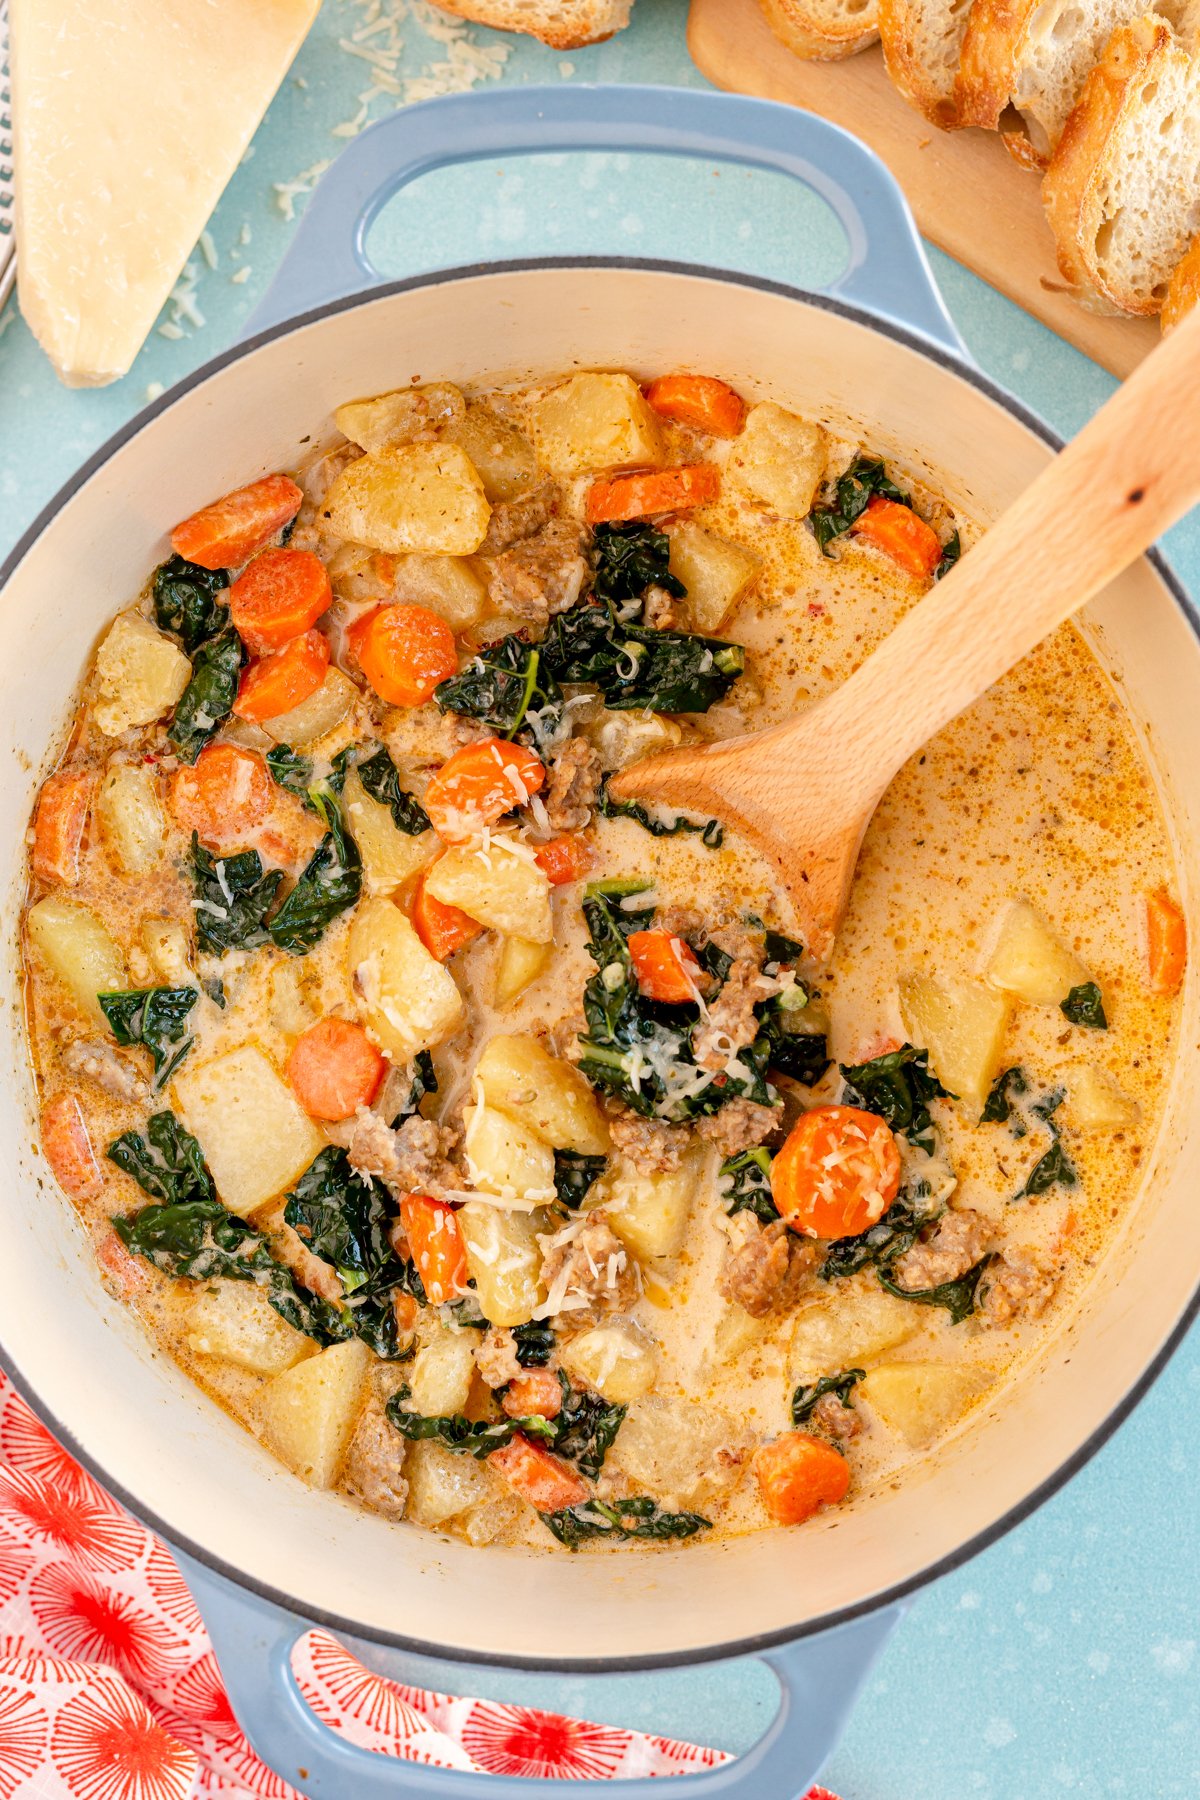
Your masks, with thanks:
[{"label": "creamy soup with potatoes, carrots, kale and sausage filling the pot", "polygon": [[972,520],[716,378],[315,441],[146,545],[36,805],[101,1278],[299,1478],[477,1544],[869,1505],[1157,1130],[1184,925],[1119,693],[1063,628],[914,758],[817,967],[748,844],[606,779],[829,691]]}]

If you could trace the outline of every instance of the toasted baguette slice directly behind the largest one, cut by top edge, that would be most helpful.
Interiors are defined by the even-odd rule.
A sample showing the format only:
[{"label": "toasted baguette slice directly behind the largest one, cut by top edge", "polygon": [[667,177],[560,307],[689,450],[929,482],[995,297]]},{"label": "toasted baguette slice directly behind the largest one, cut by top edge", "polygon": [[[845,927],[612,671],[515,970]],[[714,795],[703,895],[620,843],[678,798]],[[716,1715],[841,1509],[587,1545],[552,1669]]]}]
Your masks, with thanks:
[{"label": "toasted baguette slice directly behind the largest one, cut by top edge", "polygon": [[[1045,169],[1114,31],[1146,11],[1146,0],[975,0],[959,65],[959,124],[1000,128],[1016,162]],[[1159,0],[1153,11],[1193,47],[1191,0]]]}]

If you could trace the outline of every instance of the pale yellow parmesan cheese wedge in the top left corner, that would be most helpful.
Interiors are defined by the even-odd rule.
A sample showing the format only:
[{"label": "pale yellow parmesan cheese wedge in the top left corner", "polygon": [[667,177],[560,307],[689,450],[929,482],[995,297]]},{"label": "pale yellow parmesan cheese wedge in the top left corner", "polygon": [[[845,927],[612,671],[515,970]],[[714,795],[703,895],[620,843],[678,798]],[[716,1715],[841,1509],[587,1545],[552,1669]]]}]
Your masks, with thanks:
[{"label": "pale yellow parmesan cheese wedge in the top left corner", "polygon": [[13,0],[22,313],[68,387],[146,342],[320,0]]}]

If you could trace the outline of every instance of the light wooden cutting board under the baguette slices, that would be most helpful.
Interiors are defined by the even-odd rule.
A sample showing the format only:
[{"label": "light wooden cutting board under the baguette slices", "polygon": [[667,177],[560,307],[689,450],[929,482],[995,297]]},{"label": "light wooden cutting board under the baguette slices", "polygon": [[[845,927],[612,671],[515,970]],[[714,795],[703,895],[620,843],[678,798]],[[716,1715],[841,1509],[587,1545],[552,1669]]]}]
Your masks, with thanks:
[{"label": "light wooden cutting board under the baguette slices", "polygon": [[1157,319],[1106,319],[1063,292],[1040,184],[995,131],[939,131],[892,88],[880,47],[844,63],[804,63],[774,36],[757,0],[691,0],[687,47],[718,88],[820,113],[889,166],[925,238],[964,263],[1112,374],[1159,342]]}]

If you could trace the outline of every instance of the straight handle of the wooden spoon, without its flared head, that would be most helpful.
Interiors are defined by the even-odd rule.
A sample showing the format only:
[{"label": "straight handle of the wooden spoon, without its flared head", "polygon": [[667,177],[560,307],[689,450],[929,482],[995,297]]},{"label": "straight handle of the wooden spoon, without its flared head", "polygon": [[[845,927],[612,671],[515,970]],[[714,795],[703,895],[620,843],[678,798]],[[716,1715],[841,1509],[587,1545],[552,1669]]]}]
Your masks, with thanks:
[{"label": "straight handle of the wooden spoon, without its flared head", "polygon": [[856,770],[855,797],[873,806],[909,756],[1196,499],[1200,308],[820,702],[829,742]]}]

